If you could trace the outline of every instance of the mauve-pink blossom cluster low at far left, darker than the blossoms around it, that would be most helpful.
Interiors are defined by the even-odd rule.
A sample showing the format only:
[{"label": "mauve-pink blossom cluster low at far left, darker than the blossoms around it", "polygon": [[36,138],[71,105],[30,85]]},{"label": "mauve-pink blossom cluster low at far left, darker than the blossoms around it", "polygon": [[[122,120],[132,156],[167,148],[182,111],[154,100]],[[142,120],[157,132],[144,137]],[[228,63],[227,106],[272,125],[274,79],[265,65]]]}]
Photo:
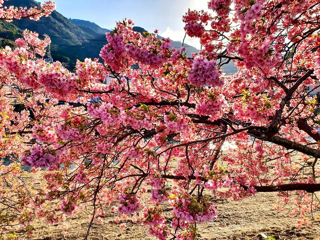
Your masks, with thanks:
[{"label": "mauve-pink blossom cluster low at far left, darker than the blossoms around it", "polygon": [[32,149],[25,151],[21,155],[21,162],[26,166],[49,169],[56,169],[59,163],[55,151],[50,150],[46,146],[40,148],[37,144],[33,145]]}]

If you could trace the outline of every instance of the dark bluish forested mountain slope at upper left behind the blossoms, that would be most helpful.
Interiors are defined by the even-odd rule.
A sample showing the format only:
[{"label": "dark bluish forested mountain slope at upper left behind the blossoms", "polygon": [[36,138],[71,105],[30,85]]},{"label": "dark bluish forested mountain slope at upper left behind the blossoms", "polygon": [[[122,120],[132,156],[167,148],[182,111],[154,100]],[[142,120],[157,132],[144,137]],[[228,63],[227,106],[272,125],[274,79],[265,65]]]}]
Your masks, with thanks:
[{"label": "dark bluish forested mountain slope at upper left behind the blossoms", "polygon": [[[39,3],[33,0],[10,0],[4,2],[4,7],[14,5],[16,7],[39,7]],[[106,44],[105,34],[99,34],[92,31],[85,31],[72,21],[62,16],[57,11],[53,11],[48,17],[42,17],[38,21],[32,21],[29,19],[21,19],[13,21],[12,25],[17,27],[14,34],[8,34],[10,32],[8,28],[12,28],[12,25],[3,24],[1,22],[1,33],[7,37],[3,41],[14,45],[14,40],[17,37],[21,37],[23,29],[28,29],[33,32],[37,32],[40,35],[47,34],[51,38],[51,56],[54,61],[59,61],[62,65],[69,70],[73,70],[76,60],[81,61],[84,58],[98,58],[100,49]],[[4,39],[4,38],[3,38]],[[0,42],[1,47],[3,47]]]}]

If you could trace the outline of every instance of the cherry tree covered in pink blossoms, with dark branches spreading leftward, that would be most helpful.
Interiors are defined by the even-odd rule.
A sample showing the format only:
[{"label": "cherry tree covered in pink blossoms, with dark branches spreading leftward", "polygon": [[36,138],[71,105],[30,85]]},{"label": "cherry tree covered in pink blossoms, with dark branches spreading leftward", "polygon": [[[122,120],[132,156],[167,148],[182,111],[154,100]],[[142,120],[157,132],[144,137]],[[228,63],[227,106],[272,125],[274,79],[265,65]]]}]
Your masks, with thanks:
[{"label": "cherry tree covered in pink blossoms, with dark branches spreading leftward", "polygon": [[[196,239],[196,224],[219,216],[210,196],[273,191],[278,208],[294,203],[298,227],[313,220],[320,2],[208,8],[183,16],[203,46],[191,58],[169,39],[134,32],[131,20],[106,34],[103,63],[78,61],[74,72],[38,58],[49,39],[29,31],[0,51],[0,157],[12,161],[0,165],[1,212],[18,214],[1,214],[2,227],[58,222],[92,205],[90,226],[111,206],[116,222],[130,217],[159,239]],[[238,71],[225,75],[230,61]]]}]

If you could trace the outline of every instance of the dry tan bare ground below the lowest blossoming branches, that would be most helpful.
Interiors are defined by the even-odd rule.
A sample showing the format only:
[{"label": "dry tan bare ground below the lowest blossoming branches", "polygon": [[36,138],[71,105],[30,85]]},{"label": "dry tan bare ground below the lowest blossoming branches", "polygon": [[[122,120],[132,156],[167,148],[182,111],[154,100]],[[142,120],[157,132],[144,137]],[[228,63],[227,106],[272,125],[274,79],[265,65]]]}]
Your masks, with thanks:
[{"label": "dry tan bare ground below the lowest blossoming branches", "polygon": [[[273,209],[276,193],[258,193],[254,198],[240,201],[216,199],[218,217],[208,223],[199,224],[201,240],[215,239],[263,239],[261,233],[274,239],[320,239],[320,221],[296,229],[296,219],[288,217],[288,211]],[[170,210],[168,210],[170,211]],[[68,229],[61,225],[49,225],[41,220],[33,224],[36,229],[33,236],[25,236],[16,229],[18,239],[32,240],[77,240],[83,239],[89,222],[91,209],[67,219]],[[319,216],[320,211],[314,212]],[[121,229],[114,222],[115,213],[106,211],[101,223],[93,223],[89,240],[148,240],[156,239],[147,232],[147,227],[127,221],[127,227]]]}]

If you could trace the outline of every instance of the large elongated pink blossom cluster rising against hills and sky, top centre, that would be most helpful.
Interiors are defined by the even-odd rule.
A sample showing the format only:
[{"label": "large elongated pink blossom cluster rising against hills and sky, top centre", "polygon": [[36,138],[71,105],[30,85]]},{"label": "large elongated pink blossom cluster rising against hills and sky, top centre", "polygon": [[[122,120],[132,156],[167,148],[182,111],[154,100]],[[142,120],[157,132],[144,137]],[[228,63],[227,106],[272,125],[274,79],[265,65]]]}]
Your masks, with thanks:
[{"label": "large elongated pink blossom cluster rising against hills and sky, top centre", "polygon": [[143,37],[132,30],[132,21],[117,23],[115,32],[107,33],[108,42],[100,52],[100,57],[113,71],[120,71],[134,63],[159,68],[168,61],[179,59],[180,52],[171,49],[169,39],[156,36]]}]

